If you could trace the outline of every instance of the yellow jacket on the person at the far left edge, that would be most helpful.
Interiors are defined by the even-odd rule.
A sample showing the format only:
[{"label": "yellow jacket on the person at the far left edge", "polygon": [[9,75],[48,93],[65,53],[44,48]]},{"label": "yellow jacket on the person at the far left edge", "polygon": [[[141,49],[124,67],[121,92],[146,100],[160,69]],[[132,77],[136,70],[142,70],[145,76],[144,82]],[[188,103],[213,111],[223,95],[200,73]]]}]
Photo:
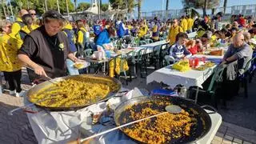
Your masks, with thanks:
[{"label": "yellow jacket on the person at the far left edge", "polygon": [[10,37],[10,34],[0,36],[0,71],[17,71],[22,69],[22,62],[18,60],[18,50],[22,40]]}]

